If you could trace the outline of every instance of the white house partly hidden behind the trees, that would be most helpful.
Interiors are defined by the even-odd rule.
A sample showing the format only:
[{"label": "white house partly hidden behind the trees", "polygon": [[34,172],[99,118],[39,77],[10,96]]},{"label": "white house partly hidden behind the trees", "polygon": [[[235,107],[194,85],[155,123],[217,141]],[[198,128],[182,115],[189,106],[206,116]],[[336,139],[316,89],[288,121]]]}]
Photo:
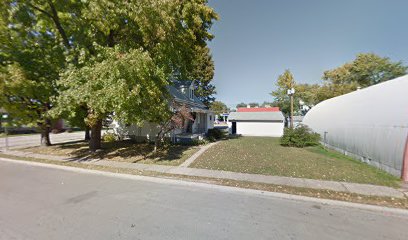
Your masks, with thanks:
[{"label": "white house partly hidden behind the trees", "polygon": [[[174,81],[168,86],[169,93],[177,104],[185,105],[191,110],[194,120],[187,120],[183,129],[175,129],[169,134],[175,142],[202,139],[208,129],[214,127],[214,113],[209,110],[194,93],[193,81]],[[159,131],[157,124],[146,122],[141,126],[126,125],[114,121],[114,132],[121,138],[131,138],[136,141],[154,141]]]}]

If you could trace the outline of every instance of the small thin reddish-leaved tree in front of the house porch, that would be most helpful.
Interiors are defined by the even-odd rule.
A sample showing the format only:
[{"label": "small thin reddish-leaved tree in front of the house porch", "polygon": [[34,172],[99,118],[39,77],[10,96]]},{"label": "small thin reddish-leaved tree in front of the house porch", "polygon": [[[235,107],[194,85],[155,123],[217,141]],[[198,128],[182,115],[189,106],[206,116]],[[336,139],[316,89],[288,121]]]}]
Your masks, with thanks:
[{"label": "small thin reddish-leaved tree in front of the house porch", "polygon": [[159,132],[156,135],[153,152],[157,152],[157,148],[168,133],[175,129],[184,128],[187,120],[194,120],[190,110],[185,105],[173,103],[172,109],[173,111],[167,111],[161,116],[161,120],[157,122],[159,124]]}]

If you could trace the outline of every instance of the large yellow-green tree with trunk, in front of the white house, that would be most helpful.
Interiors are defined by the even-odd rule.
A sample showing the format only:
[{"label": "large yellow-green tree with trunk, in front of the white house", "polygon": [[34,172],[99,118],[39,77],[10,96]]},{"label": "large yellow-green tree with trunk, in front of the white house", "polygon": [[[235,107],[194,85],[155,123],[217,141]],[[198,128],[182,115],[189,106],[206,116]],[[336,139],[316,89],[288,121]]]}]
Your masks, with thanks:
[{"label": "large yellow-green tree with trunk, in front of the white house", "polygon": [[[62,14],[67,16],[62,25],[71,30],[68,39],[75,51],[71,66],[60,81],[63,91],[54,114],[61,108],[74,111],[84,106],[88,110],[86,122],[92,128],[92,150],[100,148],[100,123],[109,114],[127,122],[160,119],[149,115],[160,115],[168,108],[164,105],[165,86],[170,79],[197,78],[201,81],[198,89],[211,87],[213,68],[200,70],[205,65],[202,62],[208,62],[210,56],[205,50],[207,41],[213,38],[208,30],[217,18],[207,1],[91,0],[81,4],[76,14]],[[113,52],[109,50],[113,48]],[[120,59],[130,62],[144,59],[147,65],[131,68]],[[125,67],[130,69],[122,69]],[[138,82],[146,73],[152,74],[152,79]],[[136,91],[131,96],[139,109],[118,109],[106,103],[128,104],[127,98],[113,96],[113,90],[118,94]],[[81,95],[75,98],[77,91]]]}]

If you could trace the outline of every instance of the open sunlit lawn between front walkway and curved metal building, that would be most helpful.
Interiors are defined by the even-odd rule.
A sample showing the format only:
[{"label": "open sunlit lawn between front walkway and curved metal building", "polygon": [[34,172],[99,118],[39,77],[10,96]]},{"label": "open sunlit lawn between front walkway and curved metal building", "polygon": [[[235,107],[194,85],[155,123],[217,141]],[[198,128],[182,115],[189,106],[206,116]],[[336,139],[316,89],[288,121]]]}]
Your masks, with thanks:
[{"label": "open sunlit lawn between front walkway and curved metal building", "polygon": [[399,179],[368,164],[322,147],[289,148],[279,138],[240,137],[208,149],[195,168],[368,183],[397,187]]}]

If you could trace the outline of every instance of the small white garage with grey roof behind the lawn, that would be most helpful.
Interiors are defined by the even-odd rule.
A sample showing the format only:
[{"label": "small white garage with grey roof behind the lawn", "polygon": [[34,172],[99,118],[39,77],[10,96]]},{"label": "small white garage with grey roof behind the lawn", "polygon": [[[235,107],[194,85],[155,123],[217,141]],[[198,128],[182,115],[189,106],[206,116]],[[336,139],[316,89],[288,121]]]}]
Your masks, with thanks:
[{"label": "small white garage with grey roof behind the lawn", "polygon": [[285,125],[282,112],[232,112],[228,117],[231,134],[281,137]]}]

